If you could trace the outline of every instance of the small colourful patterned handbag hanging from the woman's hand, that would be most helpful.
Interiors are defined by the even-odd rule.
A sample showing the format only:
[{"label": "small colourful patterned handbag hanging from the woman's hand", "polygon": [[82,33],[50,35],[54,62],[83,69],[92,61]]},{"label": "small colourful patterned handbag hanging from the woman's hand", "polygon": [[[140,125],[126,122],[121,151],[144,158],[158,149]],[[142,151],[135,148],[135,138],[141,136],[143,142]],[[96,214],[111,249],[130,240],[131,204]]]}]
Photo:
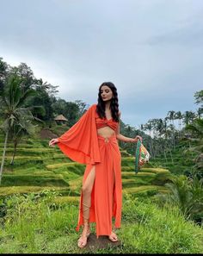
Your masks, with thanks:
[{"label": "small colourful patterned handbag hanging from the woman's hand", "polygon": [[140,167],[148,163],[150,160],[150,153],[146,150],[145,146],[138,139],[137,147],[135,151],[135,172],[138,173]]}]

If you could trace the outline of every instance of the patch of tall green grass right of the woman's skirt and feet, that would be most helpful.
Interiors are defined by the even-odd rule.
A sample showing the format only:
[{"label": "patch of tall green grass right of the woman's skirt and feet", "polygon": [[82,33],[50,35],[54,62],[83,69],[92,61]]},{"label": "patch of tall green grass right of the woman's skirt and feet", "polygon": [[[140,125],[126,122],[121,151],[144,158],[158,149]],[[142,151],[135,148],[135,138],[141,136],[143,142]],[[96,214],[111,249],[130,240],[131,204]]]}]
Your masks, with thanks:
[{"label": "patch of tall green grass right of the woman's skirt and feet", "polygon": [[[150,200],[127,198],[123,219],[127,224],[120,234],[128,251],[136,253],[197,253],[202,250],[202,229],[186,222],[175,207],[161,209]],[[195,230],[195,231],[194,231]],[[125,232],[126,231],[126,232]],[[201,244],[201,246],[200,246]]]}]

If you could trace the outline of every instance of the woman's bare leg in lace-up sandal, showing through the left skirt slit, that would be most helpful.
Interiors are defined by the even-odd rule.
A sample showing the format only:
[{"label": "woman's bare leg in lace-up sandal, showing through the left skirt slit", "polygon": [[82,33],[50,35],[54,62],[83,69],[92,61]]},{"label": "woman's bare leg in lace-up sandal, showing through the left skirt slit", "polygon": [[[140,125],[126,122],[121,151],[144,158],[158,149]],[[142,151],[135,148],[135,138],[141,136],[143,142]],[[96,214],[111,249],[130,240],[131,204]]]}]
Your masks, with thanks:
[{"label": "woman's bare leg in lace-up sandal, showing through the left skirt slit", "polygon": [[78,247],[85,247],[87,244],[87,237],[90,233],[89,228],[89,208],[91,206],[91,192],[95,182],[95,166],[89,172],[88,177],[83,184],[83,233],[78,240]]}]

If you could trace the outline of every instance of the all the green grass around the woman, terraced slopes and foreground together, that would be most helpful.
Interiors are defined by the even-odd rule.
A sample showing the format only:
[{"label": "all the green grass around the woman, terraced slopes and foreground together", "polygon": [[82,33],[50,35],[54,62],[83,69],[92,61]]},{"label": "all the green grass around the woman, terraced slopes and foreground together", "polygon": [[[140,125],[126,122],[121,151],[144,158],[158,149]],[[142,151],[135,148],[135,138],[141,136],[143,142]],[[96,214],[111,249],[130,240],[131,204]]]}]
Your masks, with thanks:
[{"label": "all the green grass around the woman, terraced slopes and foreground together", "polygon": [[[35,138],[19,144],[11,166],[11,147],[0,187],[0,215],[6,209],[0,216],[0,253],[82,253],[75,227],[85,165]],[[186,222],[178,209],[153,203],[157,193],[169,192],[163,184],[171,175],[170,164],[164,169],[159,158],[160,163],[146,164],[135,173],[134,158],[124,150],[120,153],[121,247],[95,253],[202,253],[202,228]]]}]

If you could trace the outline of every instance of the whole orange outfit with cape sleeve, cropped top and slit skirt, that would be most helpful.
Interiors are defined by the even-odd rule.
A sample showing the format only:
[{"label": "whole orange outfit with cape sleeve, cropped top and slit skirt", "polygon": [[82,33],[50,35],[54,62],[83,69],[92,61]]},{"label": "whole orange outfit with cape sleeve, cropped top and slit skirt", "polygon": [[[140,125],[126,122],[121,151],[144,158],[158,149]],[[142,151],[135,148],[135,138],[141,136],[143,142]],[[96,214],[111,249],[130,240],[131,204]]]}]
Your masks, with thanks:
[{"label": "whole orange outfit with cape sleeve, cropped top and slit skirt", "polygon": [[[112,218],[114,227],[120,228],[122,207],[121,156],[116,135],[104,138],[96,129],[108,126],[114,130],[118,122],[101,119],[92,105],[80,120],[58,138],[58,147],[74,161],[86,164],[83,183],[95,165],[95,183],[91,192],[89,222],[95,222],[96,236],[110,235]],[[83,225],[83,191],[76,230]]]}]

